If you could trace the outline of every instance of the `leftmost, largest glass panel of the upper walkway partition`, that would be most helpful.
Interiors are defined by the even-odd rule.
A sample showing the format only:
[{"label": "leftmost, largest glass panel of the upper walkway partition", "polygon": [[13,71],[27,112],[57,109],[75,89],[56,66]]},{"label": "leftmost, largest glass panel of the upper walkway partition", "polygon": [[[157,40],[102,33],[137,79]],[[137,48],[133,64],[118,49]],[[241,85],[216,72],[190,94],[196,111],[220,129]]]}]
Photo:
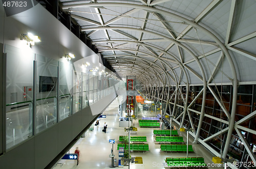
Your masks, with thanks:
[{"label": "leftmost, largest glass panel of the upper walkway partition", "polygon": [[[28,47],[28,46],[27,46]],[[6,70],[6,148],[33,134],[34,53],[5,45]]]}]

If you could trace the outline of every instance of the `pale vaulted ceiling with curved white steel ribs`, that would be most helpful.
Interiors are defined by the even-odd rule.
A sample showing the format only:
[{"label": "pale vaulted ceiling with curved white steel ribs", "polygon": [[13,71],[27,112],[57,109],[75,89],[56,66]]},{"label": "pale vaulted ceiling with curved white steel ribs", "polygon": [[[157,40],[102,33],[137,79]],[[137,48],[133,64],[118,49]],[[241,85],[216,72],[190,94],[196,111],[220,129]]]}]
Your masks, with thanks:
[{"label": "pale vaulted ceiling with curved white steel ribs", "polygon": [[256,1],[65,1],[120,77],[142,83],[256,81]]}]

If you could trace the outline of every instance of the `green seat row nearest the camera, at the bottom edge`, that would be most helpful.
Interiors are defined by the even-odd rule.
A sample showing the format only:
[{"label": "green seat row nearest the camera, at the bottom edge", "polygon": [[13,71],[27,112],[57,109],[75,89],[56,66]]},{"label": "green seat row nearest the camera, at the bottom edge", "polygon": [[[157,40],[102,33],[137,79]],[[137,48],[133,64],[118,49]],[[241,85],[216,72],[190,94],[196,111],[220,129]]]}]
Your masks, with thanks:
[{"label": "green seat row nearest the camera, at the bottom edge", "polygon": [[168,166],[205,166],[203,157],[191,158],[166,158],[165,162]]}]

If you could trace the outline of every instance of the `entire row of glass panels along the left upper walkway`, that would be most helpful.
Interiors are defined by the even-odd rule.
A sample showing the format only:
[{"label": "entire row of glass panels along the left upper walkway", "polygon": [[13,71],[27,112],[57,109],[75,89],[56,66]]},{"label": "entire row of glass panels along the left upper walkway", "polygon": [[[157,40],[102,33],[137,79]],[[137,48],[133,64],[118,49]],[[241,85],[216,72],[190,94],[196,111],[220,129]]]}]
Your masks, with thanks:
[{"label": "entire row of glass panels along the left upper walkway", "polygon": [[68,61],[35,54],[27,45],[5,45],[4,52],[7,149],[114,92],[106,74],[89,76]]}]

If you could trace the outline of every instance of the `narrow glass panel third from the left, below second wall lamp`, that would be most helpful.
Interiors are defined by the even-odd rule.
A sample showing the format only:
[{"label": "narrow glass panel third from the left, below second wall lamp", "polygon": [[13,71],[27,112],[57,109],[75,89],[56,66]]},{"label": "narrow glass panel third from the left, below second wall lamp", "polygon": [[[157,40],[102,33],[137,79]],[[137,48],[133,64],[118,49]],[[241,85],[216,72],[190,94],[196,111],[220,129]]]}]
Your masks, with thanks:
[{"label": "narrow glass panel third from the left, below second wall lamp", "polygon": [[72,65],[59,62],[59,121],[72,114]]}]

